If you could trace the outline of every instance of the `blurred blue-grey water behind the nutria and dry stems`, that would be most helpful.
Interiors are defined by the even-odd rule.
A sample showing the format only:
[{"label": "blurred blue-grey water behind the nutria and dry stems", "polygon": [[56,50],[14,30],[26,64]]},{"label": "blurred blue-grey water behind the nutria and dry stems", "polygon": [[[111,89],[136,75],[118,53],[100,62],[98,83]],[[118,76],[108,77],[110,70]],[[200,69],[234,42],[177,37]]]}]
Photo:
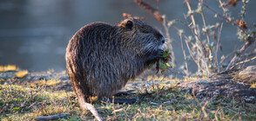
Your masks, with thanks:
[{"label": "blurred blue-grey water behind the nutria and dry stems", "polygon": [[[197,3],[191,0],[192,9]],[[182,0],[146,0],[164,14],[168,20],[184,20],[187,8]],[[208,0],[207,4],[219,9],[217,0]],[[256,1],[251,0],[246,6],[246,22],[256,20]],[[232,8],[233,15],[241,10],[242,3]],[[1,0],[0,1],[0,65],[13,64],[30,71],[65,69],[65,48],[78,29],[90,22],[108,22],[114,25],[122,21],[123,13],[131,16],[144,16],[145,22],[163,31],[163,26],[152,16],[142,10],[133,0]],[[221,13],[222,11],[218,11]],[[207,25],[222,22],[211,11],[205,13]],[[201,22],[200,16],[197,22]],[[202,24],[201,24],[202,25]],[[248,24],[253,28],[253,24]],[[180,29],[187,31],[185,26]],[[224,22],[220,37],[222,54],[230,54],[240,43],[237,29]],[[172,46],[178,66],[183,64],[183,54],[177,31],[170,29]],[[196,70],[190,62],[192,71]]]}]

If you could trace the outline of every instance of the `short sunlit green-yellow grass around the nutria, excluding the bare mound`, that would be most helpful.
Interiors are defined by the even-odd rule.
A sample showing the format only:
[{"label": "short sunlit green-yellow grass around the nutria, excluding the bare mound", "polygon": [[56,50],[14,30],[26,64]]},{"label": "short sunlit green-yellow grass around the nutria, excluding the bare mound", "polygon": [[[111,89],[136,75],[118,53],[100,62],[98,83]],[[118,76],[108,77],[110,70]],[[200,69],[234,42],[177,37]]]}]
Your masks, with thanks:
[{"label": "short sunlit green-yellow grass around the nutria, excluding the bare mound", "polygon": [[[152,78],[152,77],[149,77]],[[156,77],[154,77],[156,79]],[[49,80],[48,80],[49,81]],[[70,112],[61,120],[93,120],[91,113],[79,109],[74,92],[54,91],[44,85],[0,85],[0,118],[2,120],[34,120],[46,116]],[[176,80],[177,81],[177,80]],[[49,84],[49,85],[48,85]],[[256,105],[241,103],[226,97],[197,99],[181,94],[168,86],[149,87],[136,95],[123,98],[138,98],[134,105],[104,104],[94,102],[100,115],[108,120],[253,120]]]}]

